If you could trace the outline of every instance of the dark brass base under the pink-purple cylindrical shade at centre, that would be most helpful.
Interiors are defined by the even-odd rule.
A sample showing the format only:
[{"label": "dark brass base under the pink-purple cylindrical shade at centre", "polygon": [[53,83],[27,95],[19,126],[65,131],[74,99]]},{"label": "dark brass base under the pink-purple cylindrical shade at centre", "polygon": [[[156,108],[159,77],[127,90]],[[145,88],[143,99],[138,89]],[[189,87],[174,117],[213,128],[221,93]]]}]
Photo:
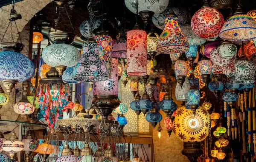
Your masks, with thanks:
[{"label": "dark brass base under the pink-purple cylindrical shade at centre", "polygon": [[102,119],[108,119],[113,109],[120,105],[120,100],[116,95],[94,95],[92,105],[96,106]]}]

